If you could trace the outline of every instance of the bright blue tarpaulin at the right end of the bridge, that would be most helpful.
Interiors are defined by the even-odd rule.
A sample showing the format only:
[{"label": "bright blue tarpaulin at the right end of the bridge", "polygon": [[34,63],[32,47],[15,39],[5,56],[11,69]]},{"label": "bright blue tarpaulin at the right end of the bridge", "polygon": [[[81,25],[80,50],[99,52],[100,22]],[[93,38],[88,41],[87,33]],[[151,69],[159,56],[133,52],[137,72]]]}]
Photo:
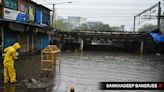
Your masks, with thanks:
[{"label": "bright blue tarpaulin at the right end of the bridge", "polygon": [[156,43],[164,42],[164,35],[159,33],[150,33]]}]

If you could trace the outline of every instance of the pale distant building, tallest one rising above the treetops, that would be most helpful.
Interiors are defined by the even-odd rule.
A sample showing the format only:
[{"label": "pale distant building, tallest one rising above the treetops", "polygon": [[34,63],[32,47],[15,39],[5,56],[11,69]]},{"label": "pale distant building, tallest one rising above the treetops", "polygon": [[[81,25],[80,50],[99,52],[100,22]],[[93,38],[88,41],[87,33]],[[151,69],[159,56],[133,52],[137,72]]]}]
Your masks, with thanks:
[{"label": "pale distant building, tallest one rising above the treetops", "polygon": [[72,29],[79,27],[81,24],[86,23],[87,19],[82,17],[71,16],[68,17],[68,23],[72,25]]}]

